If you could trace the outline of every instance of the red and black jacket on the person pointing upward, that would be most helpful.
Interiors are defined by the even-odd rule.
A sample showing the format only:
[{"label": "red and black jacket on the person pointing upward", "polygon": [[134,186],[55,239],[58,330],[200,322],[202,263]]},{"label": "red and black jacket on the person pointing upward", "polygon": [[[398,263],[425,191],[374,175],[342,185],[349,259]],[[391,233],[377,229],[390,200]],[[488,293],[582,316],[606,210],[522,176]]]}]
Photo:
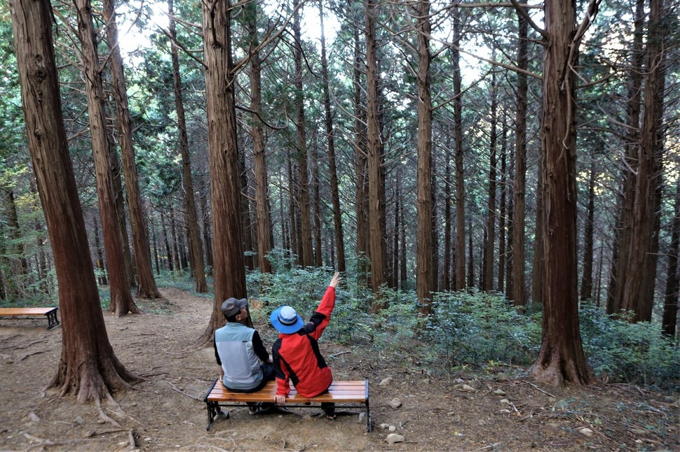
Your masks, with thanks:
[{"label": "red and black jacket on the person pointing upward", "polygon": [[289,380],[304,397],[325,392],[333,382],[331,369],[319,351],[317,340],[327,327],[334,306],[335,288],[329,286],[309,323],[298,332],[278,335],[271,353],[277,395],[290,393]]}]

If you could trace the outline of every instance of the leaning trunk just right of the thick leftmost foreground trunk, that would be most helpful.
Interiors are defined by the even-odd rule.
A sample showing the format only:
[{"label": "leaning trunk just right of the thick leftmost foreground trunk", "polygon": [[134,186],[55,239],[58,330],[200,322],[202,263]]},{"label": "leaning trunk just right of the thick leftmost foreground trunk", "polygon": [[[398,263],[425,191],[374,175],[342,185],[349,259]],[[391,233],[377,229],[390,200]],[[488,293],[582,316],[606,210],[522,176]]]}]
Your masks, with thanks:
[{"label": "leaning trunk just right of the thick leftmost foreground trunk", "polygon": [[104,232],[104,250],[107,253],[107,267],[109,269],[110,310],[116,313],[116,316],[121,317],[127,315],[128,312],[139,313],[139,309],[132,300],[128,287],[123,245],[121,243],[122,232],[114,204],[113,176],[109,160],[111,148],[109,148],[110,143],[107,137],[102,71],[97,55],[97,36],[92,19],[92,6],[90,0],[74,0],[74,4],[78,11],[78,37],[81,41],[82,70],[88,97],[88,117],[92,152],[95,160],[97,198],[99,199],[102,231]]}]

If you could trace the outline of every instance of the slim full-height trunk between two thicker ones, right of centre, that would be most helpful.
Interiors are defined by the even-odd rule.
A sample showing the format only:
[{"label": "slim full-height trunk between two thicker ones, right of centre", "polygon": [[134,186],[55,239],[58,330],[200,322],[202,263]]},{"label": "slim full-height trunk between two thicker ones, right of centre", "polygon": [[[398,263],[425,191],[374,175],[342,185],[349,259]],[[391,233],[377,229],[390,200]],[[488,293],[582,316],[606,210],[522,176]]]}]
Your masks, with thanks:
[{"label": "slim full-height trunk between two thicker ones, right of centre", "polygon": [[454,143],[456,152],[456,290],[465,289],[465,174],[463,171],[463,92],[461,91],[461,11],[453,10],[454,48],[451,50],[454,81]]}]

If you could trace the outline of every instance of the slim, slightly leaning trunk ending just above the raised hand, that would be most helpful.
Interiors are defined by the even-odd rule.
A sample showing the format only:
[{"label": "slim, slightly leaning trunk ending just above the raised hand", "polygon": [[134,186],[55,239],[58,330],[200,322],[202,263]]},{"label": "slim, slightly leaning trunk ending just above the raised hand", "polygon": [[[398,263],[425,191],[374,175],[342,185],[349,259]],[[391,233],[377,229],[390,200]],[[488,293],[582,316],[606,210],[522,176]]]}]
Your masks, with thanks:
[{"label": "slim, slightly leaning trunk ending just above the raised hand", "polygon": [[326,141],[328,146],[328,174],[331,184],[331,199],[333,203],[333,226],[335,232],[335,246],[337,249],[336,270],[344,273],[345,245],[342,232],[342,211],[340,210],[340,190],[338,188],[338,171],[335,164],[335,130],[333,128],[333,116],[331,114],[331,97],[328,89],[328,59],[326,57],[326,36],[323,24],[323,0],[319,0],[319,24],[321,26],[321,76],[323,79],[323,107],[326,125]]}]

